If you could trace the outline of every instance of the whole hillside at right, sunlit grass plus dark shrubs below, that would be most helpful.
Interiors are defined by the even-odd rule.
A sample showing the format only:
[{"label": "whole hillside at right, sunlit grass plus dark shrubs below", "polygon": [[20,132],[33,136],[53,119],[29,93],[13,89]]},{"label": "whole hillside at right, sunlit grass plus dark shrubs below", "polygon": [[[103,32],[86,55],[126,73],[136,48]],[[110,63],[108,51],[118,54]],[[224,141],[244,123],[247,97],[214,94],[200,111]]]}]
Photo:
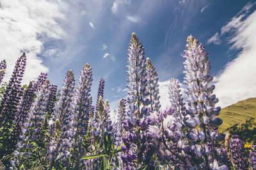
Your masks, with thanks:
[{"label": "whole hillside at right, sunlit grass plus dark shrubs below", "polygon": [[255,142],[256,139],[253,138],[256,138],[256,98],[239,101],[223,108],[219,117],[223,120],[219,127],[220,132],[229,131],[231,134],[243,136],[244,139],[248,138],[246,141]]}]

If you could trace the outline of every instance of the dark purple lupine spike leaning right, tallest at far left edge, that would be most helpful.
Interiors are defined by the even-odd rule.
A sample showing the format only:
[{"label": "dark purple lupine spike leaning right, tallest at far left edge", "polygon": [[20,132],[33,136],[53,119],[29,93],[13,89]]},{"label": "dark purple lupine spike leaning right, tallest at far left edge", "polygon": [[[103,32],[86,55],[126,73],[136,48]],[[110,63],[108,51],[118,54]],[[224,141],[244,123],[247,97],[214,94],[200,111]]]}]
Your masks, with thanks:
[{"label": "dark purple lupine spike leaning right, tallest at far left edge", "polygon": [[[10,131],[10,129],[13,129],[13,126],[15,127],[15,122],[19,119],[17,117],[17,111],[19,109],[20,98],[23,95],[21,81],[26,67],[26,60],[25,53],[17,60],[12,77],[10,78],[1,101],[0,124],[3,127],[1,136],[3,136],[6,143],[10,143],[10,136],[12,136],[12,139],[15,136],[14,132]],[[0,159],[3,156],[2,154],[8,155],[13,152],[13,146],[15,146],[15,144],[10,144],[11,145],[5,145],[1,148],[3,150],[0,150]]]}]

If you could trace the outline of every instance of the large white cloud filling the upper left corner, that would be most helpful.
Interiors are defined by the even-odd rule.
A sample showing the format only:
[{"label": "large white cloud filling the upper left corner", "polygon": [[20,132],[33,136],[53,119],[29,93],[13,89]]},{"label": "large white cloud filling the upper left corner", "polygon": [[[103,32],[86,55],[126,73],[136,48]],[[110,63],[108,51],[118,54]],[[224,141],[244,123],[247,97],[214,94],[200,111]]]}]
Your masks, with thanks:
[{"label": "large white cloud filling the upper left corner", "polygon": [[56,20],[65,19],[59,11],[58,4],[46,0],[38,1],[1,1],[0,6],[0,60],[5,59],[7,70],[4,81],[8,81],[12,74],[17,58],[26,52],[27,67],[24,83],[48,68],[38,54],[44,49],[45,41],[61,39],[65,32]]}]

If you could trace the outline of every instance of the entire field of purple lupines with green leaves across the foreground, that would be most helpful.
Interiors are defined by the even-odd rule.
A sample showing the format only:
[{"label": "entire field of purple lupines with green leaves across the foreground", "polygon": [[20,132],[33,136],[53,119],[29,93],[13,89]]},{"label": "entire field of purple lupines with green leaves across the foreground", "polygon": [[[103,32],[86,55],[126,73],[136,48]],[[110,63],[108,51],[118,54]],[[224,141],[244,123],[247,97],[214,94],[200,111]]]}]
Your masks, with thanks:
[{"label": "entire field of purple lupines with green leaves across the foreground", "polygon": [[[97,104],[90,88],[92,68],[85,64],[75,85],[67,71],[63,86],[42,73],[21,85],[26,55],[17,60],[3,85],[0,106],[0,169],[256,169],[256,147],[249,157],[239,136],[219,134],[222,120],[213,94],[205,46],[188,36],[184,51],[186,101],[179,81],[170,80],[171,106],[160,110],[157,73],[132,33],[127,53],[125,99],[110,118],[100,79]],[[0,83],[6,62],[0,63]],[[187,108],[186,108],[187,106]]]}]

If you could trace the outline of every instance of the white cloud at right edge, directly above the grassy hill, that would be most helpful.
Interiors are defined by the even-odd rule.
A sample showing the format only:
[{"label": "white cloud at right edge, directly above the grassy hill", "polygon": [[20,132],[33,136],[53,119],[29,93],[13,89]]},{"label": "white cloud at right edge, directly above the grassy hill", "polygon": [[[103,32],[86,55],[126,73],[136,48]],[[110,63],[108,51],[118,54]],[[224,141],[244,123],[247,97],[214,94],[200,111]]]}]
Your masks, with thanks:
[{"label": "white cloud at right edge, directly above the grassy hill", "polygon": [[[243,10],[250,9],[248,5]],[[232,32],[228,38],[228,43],[232,44],[230,50],[241,50],[237,58],[228,62],[225,69],[216,76],[214,93],[220,99],[218,105],[221,107],[256,97],[256,11],[247,17],[241,11],[239,14],[221,28],[222,34]]]}]

